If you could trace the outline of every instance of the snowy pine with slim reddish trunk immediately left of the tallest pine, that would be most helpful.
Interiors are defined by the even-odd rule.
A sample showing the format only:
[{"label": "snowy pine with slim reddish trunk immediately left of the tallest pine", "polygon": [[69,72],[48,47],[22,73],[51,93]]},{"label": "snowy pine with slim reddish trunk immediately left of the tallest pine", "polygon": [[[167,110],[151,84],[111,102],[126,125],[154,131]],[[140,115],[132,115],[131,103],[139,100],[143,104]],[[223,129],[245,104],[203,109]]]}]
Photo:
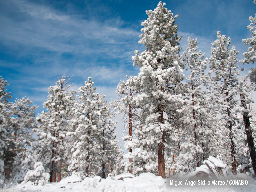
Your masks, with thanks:
[{"label": "snowy pine with slim reddish trunk immediately left of the tallest pine", "polygon": [[116,103],[116,109],[124,114],[124,133],[128,132],[128,135],[122,137],[123,141],[126,142],[124,145],[125,149],[129,150],[129,152],[124,155],[124,158],[129,159],[125,170],[133,175],[139,175],[143,172],[157,174],[157,159],[155,154],[152,153],[152,151],[147,151],[147,145],[144,146],[145,143],[143,145],[145,133],[142,132],[143,123],[140,118],[142,108],[138,108],[132,103],[135,95],[141,94],[141,92],[132,87],[132,81],[133,76],[128,76],[126,82],[121,80],[116,90],[120,97],[120,101]]}]

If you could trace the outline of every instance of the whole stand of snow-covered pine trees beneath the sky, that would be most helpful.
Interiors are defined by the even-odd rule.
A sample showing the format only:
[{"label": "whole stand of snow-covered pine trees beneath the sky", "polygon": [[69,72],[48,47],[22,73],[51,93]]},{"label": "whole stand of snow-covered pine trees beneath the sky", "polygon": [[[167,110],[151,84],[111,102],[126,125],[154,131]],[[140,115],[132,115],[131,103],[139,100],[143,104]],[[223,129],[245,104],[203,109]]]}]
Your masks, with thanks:
[{"label": "whole stand of snow-covered pine trees beneath the sky", "polygon": [[[88,77],[73,90],[63,75],[49,87],[38,116],[29,98],[14,102],[7,81],[0,79],[0,185],[44,185],[75,174],[82,179],[121,173],[153,173],[179,178],[213,156],[234,175],[241,167],[256,172],[256,68],[240,76],[239,63],[256,62],[256,14],[248,20],[252,36],[238,60],[231,38],[217,31],[211,56],[204,57],[188,38],[181,52],[178,26],[161,1],[146,11],[133,66],[137,76],[117,85],[119,100],[107,102]],[[188,75],[185,75],[188,74]],[[116,140],[116,121],[123,115],[126,154]],[[125,160],[126,159],[126,160]]]}]

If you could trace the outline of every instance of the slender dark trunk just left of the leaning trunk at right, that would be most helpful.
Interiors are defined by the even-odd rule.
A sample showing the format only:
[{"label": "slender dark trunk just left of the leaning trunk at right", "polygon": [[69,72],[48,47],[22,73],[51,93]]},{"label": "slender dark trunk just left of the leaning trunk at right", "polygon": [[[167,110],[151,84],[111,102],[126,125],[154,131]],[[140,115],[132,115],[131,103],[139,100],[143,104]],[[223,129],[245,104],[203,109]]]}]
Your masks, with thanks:
[{"label": "slender dark trunk just left of the leaning trunk at right", "polygon": [[[228,92],[226,92],[226,101],[227,103],[229,103],[229,99],[228,99]],[[231,117],[231,113],[230,113],[230,110],[227,109],[227,113],[228,113],[228,117],[230,118]],[[230,143],[231,143],[231,146],[230,146],[230,154],[231,154],[231,167],[232,167],[232,173],[234,175],[237,175],[236,173],[236,153],[235,153],[235,143],[233,141],[233,133],[232,133],[232,122],[230,120],[228,120],[228,130],[229,130],[229,140],[230,140]]]}]

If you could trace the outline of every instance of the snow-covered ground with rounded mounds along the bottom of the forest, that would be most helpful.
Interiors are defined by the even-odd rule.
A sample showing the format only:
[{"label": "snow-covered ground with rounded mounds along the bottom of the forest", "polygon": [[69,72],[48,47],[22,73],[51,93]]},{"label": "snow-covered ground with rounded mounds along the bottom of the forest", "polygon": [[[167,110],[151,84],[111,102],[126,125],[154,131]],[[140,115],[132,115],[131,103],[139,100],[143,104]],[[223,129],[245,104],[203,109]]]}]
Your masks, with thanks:
[{"label": "snow-covered ground with rounded mounds along the bottom of the forest", "polygon": [[[219,191],[219,192],[244,192],[255,191],[256,180],[248,177],[247,185],[170,185],[170,179],[162,179],[152,173],[142,173],[133,177],[125,173],[113,178],[101,179],[100,176],[85,178],[75,175],[69,176],[59,183],[47,183],[44,186],[31,184],[18,184],[0,190],[1,192],[172,192],[172,191]],[[245,174],[244,174],[245,175]],[[127,177],[128,176],[128,177]],[[132,176],[133,178],[130,178]],[[171,179],[172,180],[172,179]],[[185,180],[184,180],[185,184]]]}]

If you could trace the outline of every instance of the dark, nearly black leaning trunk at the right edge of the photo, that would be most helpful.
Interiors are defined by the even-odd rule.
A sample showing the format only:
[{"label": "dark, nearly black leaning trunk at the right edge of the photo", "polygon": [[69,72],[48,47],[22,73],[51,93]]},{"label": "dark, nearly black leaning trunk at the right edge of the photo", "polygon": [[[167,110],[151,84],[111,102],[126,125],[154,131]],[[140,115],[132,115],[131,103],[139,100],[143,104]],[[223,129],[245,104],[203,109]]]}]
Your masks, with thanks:
[{"label": "dark, nearly black leaning trunk at the right edge of the photo", "polygon": [[253,136],[252,136],[252,129],[250,125],[250,119],[249,119],[249,112],[247,110],[244,94],[240,95],[240,100],[241,100],[241,105],[244,107],[244,113],[243,113],[243,119],[244,119],[244,128],[245,128],[245,133],[247,136],[247,144],[252,160],[252,168],[254,171],[254,174],[256,174],[256,152],[255,152],[255,145],[253,141]]}]

